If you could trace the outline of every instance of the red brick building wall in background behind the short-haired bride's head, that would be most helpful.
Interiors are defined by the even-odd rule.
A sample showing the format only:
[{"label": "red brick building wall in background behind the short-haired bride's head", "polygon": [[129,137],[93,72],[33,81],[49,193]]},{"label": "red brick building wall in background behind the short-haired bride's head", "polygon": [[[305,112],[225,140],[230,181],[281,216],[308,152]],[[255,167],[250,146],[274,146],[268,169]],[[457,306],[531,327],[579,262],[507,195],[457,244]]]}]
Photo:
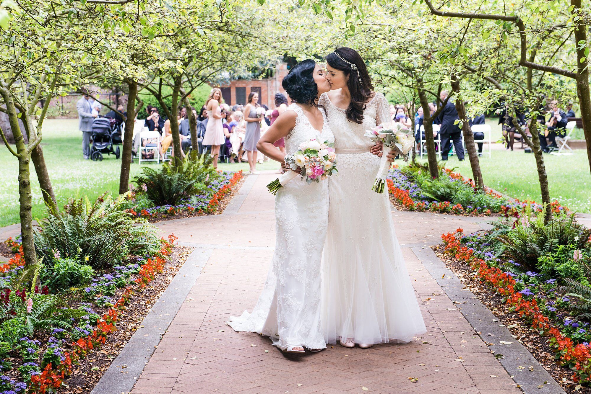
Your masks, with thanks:
[{"label": "red brick building wall in background behind the short-haired bride's head", "polygon": [[[229,106],[246,104],[251,91],[259,93],[259,104],[265,104],[272,109],[275,107],[275,93],[285,94],[281,87],[283,78],[287,75],[287,64],[281,63],[275,67],[275,74],[271,78],[261,80],[234,80],[227,85],[222,85],[222,96]],[[285,94],[287,97],[287,94]],[[289,101],[289,97],[288,101]]]}]

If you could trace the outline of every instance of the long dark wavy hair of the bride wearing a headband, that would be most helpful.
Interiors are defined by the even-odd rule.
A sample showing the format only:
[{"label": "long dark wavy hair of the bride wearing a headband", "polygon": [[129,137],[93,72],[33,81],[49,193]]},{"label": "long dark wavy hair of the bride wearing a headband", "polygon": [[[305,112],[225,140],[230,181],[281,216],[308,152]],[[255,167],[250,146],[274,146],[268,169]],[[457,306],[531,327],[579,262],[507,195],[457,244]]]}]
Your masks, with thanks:
[{"label": "long dark wavy hair of the bride wearing a headband", "polygon": [[[366,107],[365,103],[368,102],[369,98],[371,98],[372,91],[374,91],[371,77],[369,77],[368,69],[365,66],[363,58],[356,50],[342,47],[337,48],[335,52],[331,52],[327,55],[326,62],[330,67],[343,71],[345,75],[349,76],[347,87],[349,88],[349,93],[351,95],[351,103],[349,104],[349,107],[347,107],[345,114],[350,122],[361,124],[363,123],[363,110],[365,110]],[[346,61],[343,61],[339,56]],[[359,81],[357,71],[351,68],[351,64],[355,64],[357,70],[359,70],[361,82]]]}]

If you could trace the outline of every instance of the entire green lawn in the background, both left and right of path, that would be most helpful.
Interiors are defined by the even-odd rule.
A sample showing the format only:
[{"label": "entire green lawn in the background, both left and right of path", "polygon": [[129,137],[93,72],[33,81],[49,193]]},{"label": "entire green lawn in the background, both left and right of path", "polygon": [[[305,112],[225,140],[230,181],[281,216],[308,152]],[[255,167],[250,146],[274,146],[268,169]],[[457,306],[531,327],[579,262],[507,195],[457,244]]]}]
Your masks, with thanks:
[{"label": "entire green lawn in the background, both left and right of path", "polygon": [[[105,156],[102,162],[82,159],[82,135],[77,119],[48,119],[44,127],[43,149],[47,167],[59,204],[67,199],[87,195],[93,199],[104,191],[119,190],[121,161],[114,156]],[[487,120],[493,129],[493,140],[500,136],[500,127]],[[497,130],[498,129],[498,130]],[[583,150],[573,156],[545,155],[550,193],[553,198],[579,212],[591,212],[591,178]],[[492,158],[480,160],[485,183],[498,191],[519,199],[540,201],[539,183],[535,172],[534,157],[520,150],[506,152],[493,150]],[[143,164],[142,164],[143,165]],[[155,164],[150,164],[155,166]],[[458,167],[465,176],[472,176],[467,161],[458,162],[452,156],[449,166]],[[248,163],[220,164],[223,170],[248,170]],[[0,149],[0,226],[14,224],[18,217],[17,160],[4,147]],[[274,162],[265,162],[259,169],[277,169]],[[131,174],[139,172],[137,160],[131,166]],[[33,189],[33,216],[45,215],[41,191],[31,165]]]}]

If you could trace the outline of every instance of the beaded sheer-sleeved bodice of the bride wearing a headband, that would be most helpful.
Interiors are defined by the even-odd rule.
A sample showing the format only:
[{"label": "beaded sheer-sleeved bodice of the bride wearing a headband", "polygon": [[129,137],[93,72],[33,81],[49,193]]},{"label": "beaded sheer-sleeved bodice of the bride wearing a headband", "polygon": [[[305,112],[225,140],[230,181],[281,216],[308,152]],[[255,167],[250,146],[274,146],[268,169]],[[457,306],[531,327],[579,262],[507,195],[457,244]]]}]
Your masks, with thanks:
[{"label": "beaded sheer-sleeved bodice of the bride wearing a headband", "polygon": [[337,151],[339,149],[364,149],[373,146],[374,143],[363,134],[378,124],[391,122],[388,101],[381,93],[376,93],[374,98],[367,103],[367,107],[363,111],[362,124],[349,122],[345,110],[336,107],[326,93],[320,96],[319,104],[326,109],[330,128],[335,135],[335,149]]}]

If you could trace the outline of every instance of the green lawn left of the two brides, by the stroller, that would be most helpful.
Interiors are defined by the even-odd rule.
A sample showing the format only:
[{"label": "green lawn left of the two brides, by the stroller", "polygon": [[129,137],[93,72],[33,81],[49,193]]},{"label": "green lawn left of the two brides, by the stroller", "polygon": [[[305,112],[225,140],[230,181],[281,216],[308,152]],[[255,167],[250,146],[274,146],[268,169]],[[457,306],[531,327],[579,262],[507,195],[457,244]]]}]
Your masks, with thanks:
[{"label": "green lawn left of the two brides, by the stroller", "polygon": [[[47,119],[44,122],[43,152],[47,168],[60,206],[69,198],[87,195],[94,199],[105,191],[119,191],[121,160],[106,156],[102,162],[82,159],[82,133],[77,119]],[[4,144],[2,144],[4,145]],[[149,163],[147,165],[156,166]],[[144,163],[142,163],[144,166]],[[259,169],[275,169],[277,163],[265,162]],[[0,146],[0,226],[20,221],[18,216],[18,164],[16,157]],[[248,170],[248,163],[221,164],[223,170]],[[138,161],[131,165],[131,175],[140,172]],[[31,163],[31,188],[33,190],[33,217],[45,216],[41,190]]]}]

